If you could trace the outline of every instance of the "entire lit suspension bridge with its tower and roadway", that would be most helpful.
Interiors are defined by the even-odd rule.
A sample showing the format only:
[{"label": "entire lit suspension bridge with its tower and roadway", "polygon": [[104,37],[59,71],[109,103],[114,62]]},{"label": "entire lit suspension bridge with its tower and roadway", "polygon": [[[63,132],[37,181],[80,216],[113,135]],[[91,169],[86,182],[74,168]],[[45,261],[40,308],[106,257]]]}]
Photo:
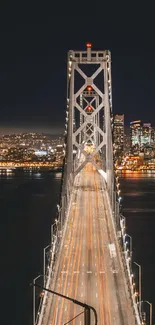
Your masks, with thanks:
[{"label": "entire lit suspension bridge with its tower and roadway", "polygon": [[[111,53],[88,43],[85,51],[68,53],[61,200],[48,263],[44,255],[38,312],[38,277],[33,281],[33,325],[142,324],[119,210],[112,131]],[[93,307],[97,320],[83,304]]]}]

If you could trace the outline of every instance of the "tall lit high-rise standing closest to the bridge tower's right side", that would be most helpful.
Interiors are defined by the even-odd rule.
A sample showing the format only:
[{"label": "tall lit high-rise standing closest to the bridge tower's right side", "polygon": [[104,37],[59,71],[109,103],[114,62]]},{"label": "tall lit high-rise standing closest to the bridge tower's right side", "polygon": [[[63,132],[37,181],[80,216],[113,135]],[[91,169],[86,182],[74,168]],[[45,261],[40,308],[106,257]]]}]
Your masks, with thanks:
[{"label": "tall lit high-rise standing closest to the bridge tower's right side", "polygon": [[115,156],[122,155],[124,150],[124,114],[114,116],[113,141]]}]

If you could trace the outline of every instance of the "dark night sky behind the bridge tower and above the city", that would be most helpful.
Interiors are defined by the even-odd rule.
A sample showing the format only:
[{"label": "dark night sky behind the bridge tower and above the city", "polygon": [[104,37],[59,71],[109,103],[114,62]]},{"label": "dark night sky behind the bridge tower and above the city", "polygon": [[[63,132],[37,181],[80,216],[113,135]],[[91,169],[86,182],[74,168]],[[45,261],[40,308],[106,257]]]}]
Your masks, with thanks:
[{"label": "dark night sky behind the bridge tower and above the city", "polygon": [[117,8],[117,15],[113,8],[113,14],[100,16],[99,8],[93,16],[66,16],[62,8],[57,16],[45,7],[35,12],[33,6],[1,8],[0,132],[63,129],[67,51],[85,50],[87,41],[112,53],[114,113],[124,113],[126,125],[134,119],[155,125],[151,8]]}]

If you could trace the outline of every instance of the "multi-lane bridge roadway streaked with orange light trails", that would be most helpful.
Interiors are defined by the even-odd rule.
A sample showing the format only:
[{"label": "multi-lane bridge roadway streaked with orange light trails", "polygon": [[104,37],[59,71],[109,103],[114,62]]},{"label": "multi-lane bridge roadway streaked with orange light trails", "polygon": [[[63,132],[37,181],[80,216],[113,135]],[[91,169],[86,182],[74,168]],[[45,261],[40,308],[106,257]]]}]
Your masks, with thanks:
[{"label": "multi-lane bridge roadway streaked with orange light trails", "polygon": [[[135,325],[103,178],[91,163],[76,176],[50,289],[92,305],[98,325]],[[66,324],[82,311],[50,294],[43,324]],[[84,324],[83,314],[71,324]]]}]

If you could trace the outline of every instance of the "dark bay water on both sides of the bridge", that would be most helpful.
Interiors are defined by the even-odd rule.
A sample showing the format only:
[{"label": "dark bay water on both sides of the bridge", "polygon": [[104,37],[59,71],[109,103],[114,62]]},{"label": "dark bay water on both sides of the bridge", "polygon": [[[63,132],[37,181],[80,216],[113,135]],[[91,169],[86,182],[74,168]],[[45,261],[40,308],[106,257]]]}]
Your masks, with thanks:
[{"label": "dark bay water on both sides of the bridge", "polygon": [[[49,244],[60,182],[61,173],[0,176],[3,323],[32,325],[29,283],[42,273],[43,247]],[[133,259],[142,266],[142,298],[155,308],[155,174],[126,173],[121,191]]]}]

